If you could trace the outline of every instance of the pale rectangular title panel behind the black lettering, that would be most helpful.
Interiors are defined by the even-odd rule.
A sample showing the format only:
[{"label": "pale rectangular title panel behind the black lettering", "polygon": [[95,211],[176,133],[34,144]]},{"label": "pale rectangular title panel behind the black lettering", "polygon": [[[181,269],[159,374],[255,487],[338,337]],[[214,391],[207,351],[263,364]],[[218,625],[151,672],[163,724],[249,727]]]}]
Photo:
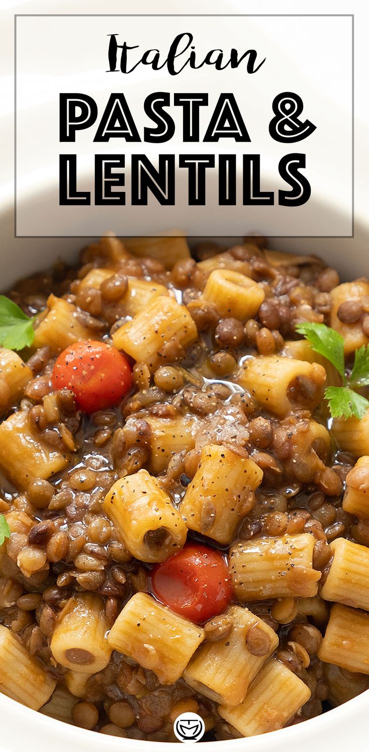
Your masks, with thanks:
[{"label": "pale rectangular title panel behind the black lettering", "polygon": [[[29,5],[31,12],[34,4]],[[258,12],[261,5],[259,2]],[[127,4],[122,3],[120,8],[124,12]],[[172,3],[168,10],[177,8]],[[90,4],[88,10],[94,10]],[[99,11],[102,10],[105,7],[100,4]],[[218,8],[213,5],[209,8],[207,4],[206,10],[215,13]],[[284,12],[276,4],[273,10]],[[331,10],[339,12],[336,7]],[[255,5],[244,3],[242,11],[255,12]],[[309,8],[309,12],[313,9]],[[323,9],[319,8],[319,12]],[[111,32],[119,33],[118,43],[127,40],[128,44],[139,44],[142,52],[150,47],[165,52],[175,35],[183,31],[193,33],[199,56],[213,47],[221,47],[224,52],[230,47],[239,52],[252,47],[258,52],[259,62],[264,57],[266,62],[252,75],[245,73],[244,65],[224,71],[209,66],[200,71],[186,68],[175,77],[169,76],[166,69],[152,71],[142,65],[129,75],[105,72]],[[47,214],[41,205],[17,202],[17,235],[89,236],[102,234],[109,228],[120,235],[136,235],[138,228],[145,235],[171,232],[173,228],[192,235],[242,235],[255,231],[273,236],[351,235],[351,59],[348,17],[151,17],[144,23],[137,17],[18,17],[17,194],[22,196],[30,181],[38,182],[41,176],[50,183],[50,191]],[[59,144],[59,92],[93,96],[101,117],[109,93],[124,91],[143,135],[144,125],[151,124],[144,114],[143,101],[150,92],[160,89],[209,92],[209,107],[200,108],[200,134],[205,132],[219,92],[233,91],[251,143],[236,144],[227,138],[218,144],[182,144],[181,108],[170,108],[176,132],[160,148],[144,142],[127,144],[121,138],[94,144],[97,123],[79,132],[75,144]],[[296,144],[279,144],[268,132],[273,99],[282,91],[301,96],[304,109],[300,119],[307,117],[316,125],[309,138]],[[187,171],[181,170],[176,179],[175,207],[162,207],[152,196],[147,208],[131,207],[130,152],[147,153],[155,163],[157,150],[176,154],[260,153],[261,188],[275,190],[276,203],[273,207],[242,207],[239,175],[237,206],[218,208],[215,171],[208,171],[206,207],[188,207]],[[288,187],[279,178],[278,162],[291,151],[306,153],[303,172],[312,187],[309,202],[298,208],[279,207],[277,199],[278,188]],[[90,207],[59,207],[58,161],[59,153],[63,152],[78,154],[78,187],[92,191]],[[93,153],[126,153],[125,207],[93,205]],[[331,209],[332,196],[335,208],[338,205],[341,209],[338,213]]]}]

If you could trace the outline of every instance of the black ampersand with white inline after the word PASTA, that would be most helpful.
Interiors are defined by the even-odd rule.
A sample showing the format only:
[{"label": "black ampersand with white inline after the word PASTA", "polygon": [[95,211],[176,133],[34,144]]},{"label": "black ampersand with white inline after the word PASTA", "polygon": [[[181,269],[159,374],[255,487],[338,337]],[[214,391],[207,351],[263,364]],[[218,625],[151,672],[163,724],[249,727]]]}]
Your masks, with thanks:
[{"label": "black ampersand with white inline after the word PASTA", "polygon": [[276,117],[270,120],[269,132],[274,141],[281,144],[294,144],[302,141],[315,131],[316,126],[305,120],[303,123],[299,116],[303,111],[303,101],[294,92],[282,92],[273,100],[273,113]]}]

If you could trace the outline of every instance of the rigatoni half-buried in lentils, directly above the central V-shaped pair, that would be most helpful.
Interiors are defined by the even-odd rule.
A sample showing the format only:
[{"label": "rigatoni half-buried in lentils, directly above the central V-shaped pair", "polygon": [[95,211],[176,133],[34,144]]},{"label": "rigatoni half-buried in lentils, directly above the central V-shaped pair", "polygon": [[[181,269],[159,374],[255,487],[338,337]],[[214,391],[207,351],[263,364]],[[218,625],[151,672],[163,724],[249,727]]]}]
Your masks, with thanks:
[{"label": "rigatoni half-buried in lentils, directly above the central V-shaped pair", "polygon": [[173,418],[158,418],[148,415],[146,423],[150,426],[149,469],[158,475],[168,467],[173,454],[183,451],[186,453],[194,449],[197,420],[192,415],[181,415]]}]

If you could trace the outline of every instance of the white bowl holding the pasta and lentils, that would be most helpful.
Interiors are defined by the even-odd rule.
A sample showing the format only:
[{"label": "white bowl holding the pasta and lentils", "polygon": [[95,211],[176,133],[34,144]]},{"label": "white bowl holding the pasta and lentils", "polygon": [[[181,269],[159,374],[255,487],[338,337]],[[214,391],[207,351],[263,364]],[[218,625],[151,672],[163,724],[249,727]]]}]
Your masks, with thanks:
[{"label": "white bowl holding the pasta and lentils", "polygon": [[[24,196],[24,202],[34,202]],[[43,202],[47,212],[47,191],[38,192],[38,200]],[[332,205],[328,211],[334,211]],[[114,229],[114,228],[112,228]],[[255,228],[262,232],[262,228]],[[139,230],[138,230],[139,234]],[[88,240],[73,238],[14,238],[14,216],[11,197],[2,205],[0,211],[0,237],[2,238],[2,290],[6,290],[17,278],[32,271],[39,271],[50,266],[58,257],[73,259],[81,245]],[[300,253],[317,253],[326,262],[337,266],[343,278],[360,277],[367,271],[367,247],[369,228],[366,222],[355,223],[355,238],[279,238],[272,241],[272,247]],[[232,239],[234,243],[236,238]],[[364,748],[364,733],[367,726],[367,708],[369,690],[355,699],[301,724],[281,731],[255,736],[247,739],[230,741],[198,742],[199,752],[285,752],[288,747],[298,747],[299,752],[311,752],[313,744],[319,738],[319,745],[325,750],[346,752],[351,747],[355,750]],[[158,748],[158,742],[136,741],[96,734],[94,732],[69,726],[58,720],[36,714],[0,693],[0,748],[4,752],[20,750],[37,750],[37,752],[152,752]],[[161,742],[160,742],[161,744]],[[178,750],[178,744],[167,743],[165,752]]]}]

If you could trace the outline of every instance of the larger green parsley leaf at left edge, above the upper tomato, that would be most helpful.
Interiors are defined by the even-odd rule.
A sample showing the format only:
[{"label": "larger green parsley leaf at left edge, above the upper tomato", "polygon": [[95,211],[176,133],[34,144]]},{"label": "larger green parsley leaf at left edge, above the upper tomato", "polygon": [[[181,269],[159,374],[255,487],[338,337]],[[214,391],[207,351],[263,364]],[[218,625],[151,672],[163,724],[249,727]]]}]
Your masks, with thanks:
[{"label": "larger green parsley leaf at left edge, above the upper tomato", "polygon": [[30,319],[23,314],[17,303],[0,295],[0,344],[3,347],[8,347],[9,350],[29,347],[35,337],[32,326],[34,320],[35,317]]}]

